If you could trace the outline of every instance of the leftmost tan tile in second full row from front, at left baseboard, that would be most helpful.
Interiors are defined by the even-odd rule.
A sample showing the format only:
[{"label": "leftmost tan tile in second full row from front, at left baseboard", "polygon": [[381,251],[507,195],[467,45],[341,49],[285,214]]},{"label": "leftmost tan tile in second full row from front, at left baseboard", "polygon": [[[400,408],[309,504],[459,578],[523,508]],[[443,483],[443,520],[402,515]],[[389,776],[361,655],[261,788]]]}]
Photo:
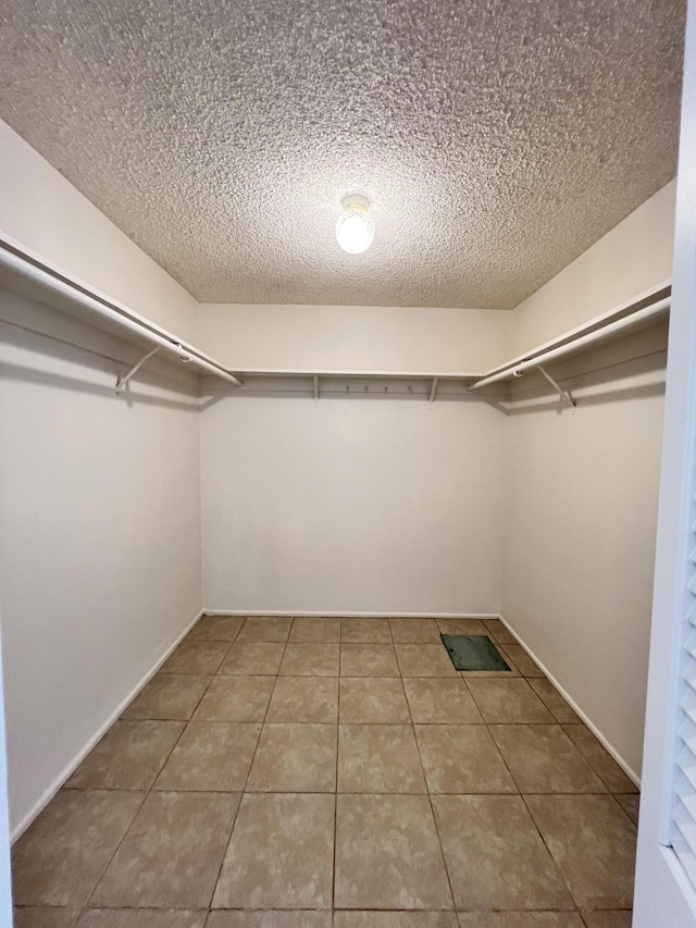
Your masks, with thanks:
[{"label": "leftmost tan tile in second full row from front, at left baseboard", "polygon": [[92,747],[67,789],[147,790],[184,731],[183,721],[121,719]]}]

